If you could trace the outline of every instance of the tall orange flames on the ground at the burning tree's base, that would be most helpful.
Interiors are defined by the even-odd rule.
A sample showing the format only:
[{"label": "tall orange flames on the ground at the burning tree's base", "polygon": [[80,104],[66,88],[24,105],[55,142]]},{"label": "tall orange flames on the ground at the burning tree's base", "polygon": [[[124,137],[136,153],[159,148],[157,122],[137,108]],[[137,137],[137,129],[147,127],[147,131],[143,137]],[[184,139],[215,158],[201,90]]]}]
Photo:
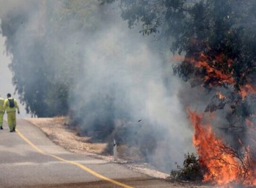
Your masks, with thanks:
[{"label": "tall orange flames on the ground at the burning tree's base", "polygon": [[[256,185],[256,174],[250,158],[249,147],[244,147],[244,155],[239,158],[231,147],[226,146],[212,131],[210,124],[201,124],[203,113],[188,110],[189,118],[195,128],[193,144],[199,155],[199,162],[206,167],[203,181],[218,185],[241,183],[247,186]],[[241,142],[241,144],[243,144]]]}]

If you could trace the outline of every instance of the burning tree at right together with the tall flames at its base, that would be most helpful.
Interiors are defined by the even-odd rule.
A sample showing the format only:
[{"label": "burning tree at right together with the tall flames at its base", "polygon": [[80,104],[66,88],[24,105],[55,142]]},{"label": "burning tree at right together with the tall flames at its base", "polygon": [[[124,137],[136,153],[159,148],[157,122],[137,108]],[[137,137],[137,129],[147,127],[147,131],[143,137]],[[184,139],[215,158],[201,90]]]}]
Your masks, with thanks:
[{"label": "burning tree at right together with the tall flames at its base", "polygon": [[[119,5],[130,28],[140,22],[143,35],[164,38],[182,57],[173,64],[174,75],[212,95],[205,116],[221,113],[216,131],[215,118],[189,111],[194,144],[208,169],[205,181],[256,185],[256,1],[120,0]],[[225,135],[229,139],[222,139]]]}]

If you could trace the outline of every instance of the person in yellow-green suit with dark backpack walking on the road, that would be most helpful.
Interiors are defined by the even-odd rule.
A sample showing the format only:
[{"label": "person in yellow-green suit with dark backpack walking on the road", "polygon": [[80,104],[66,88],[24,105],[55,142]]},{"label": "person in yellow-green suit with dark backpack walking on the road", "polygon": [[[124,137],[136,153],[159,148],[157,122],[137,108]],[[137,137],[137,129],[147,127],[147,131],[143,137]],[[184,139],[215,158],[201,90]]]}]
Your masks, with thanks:
[{"label": "person in yellow-green suit with dark backpack walking on the road", "polygon": [[16,108],[18,109],[18,113],[20,113],[20,108],[15,99],[11,97],[11,94],[7,94],[7,99],[5,99],[5,103],[3,103],[3,112],[7,113],[7,122],[9,125],[10,132],[15,132],[16,127]]}]

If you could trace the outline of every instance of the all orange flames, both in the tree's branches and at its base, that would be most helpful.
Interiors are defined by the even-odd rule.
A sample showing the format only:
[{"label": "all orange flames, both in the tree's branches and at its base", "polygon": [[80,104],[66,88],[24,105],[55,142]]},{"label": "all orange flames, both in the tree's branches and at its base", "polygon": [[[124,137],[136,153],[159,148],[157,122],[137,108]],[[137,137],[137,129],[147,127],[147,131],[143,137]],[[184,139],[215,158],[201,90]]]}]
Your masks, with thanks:
[{"label": "all orange flames, both in the tree's branches and at its base", "polygon": [[[229,88],[226,86],[230,85],[236,89],[240,82],[236,80],[237,77],[234,74],[233,60],[222,53],[213,55],[208,56],[204,52],[199,52],[185,56],[183,62],[185,65],[189,65],[185,67],[188,67],[189,71],[192,70],[191,72],[194,74],[190,75],[190,79],[193,79],[195,84],[203,83],[203,86],[206,87],[225,86],[225,88]],[[241,77],[243,78],[245,75],[241,75]],[[239,93],[242,99],[245,99],[247,95],[256,94],[256,88],[247,83],[240,88]],[[222,105],[225,105],[226,101],[230,102],[225,100],[226,96],[220,92],[217,92],[216,96],[223,102]],[[254,144],[251,144],[256,141],[255,134],[251,136],[252,132],[247,133],[250,134],[250,138],[247,138],[249,145],[243,143],[243,140],[237,140],[238,148],[234,149],[214,134],[211,124],[202,124],[205,120],[203,113],[190,110],[188,113],[195,129],[193,144],[199,155],[201,167],[205,169],[203,181],[211,181],[218,185],[234,183],[248,187],[256,186],[256,148]],[[212,114],[210,120],[214,120]],[[245,124],[247,128],[255,128],[249,118],[245,120]]]}]

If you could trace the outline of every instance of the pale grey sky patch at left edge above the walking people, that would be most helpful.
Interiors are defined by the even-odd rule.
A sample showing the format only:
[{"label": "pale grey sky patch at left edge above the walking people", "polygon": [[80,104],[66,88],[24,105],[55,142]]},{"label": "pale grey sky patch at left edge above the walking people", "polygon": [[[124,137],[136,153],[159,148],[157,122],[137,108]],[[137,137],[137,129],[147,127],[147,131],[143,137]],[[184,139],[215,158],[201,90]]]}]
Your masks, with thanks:
[{"label": "pale grey sky patch at left edge above the walking people", "polygon": [[[14,87],[11,83],[11,71],[8,68],[8,64],[11,62],[10,56],[7,56],[5,53],[5,38],[3,38],[2,35],[0,35],[0,75],[1,75],[1,87],[0,87],[0,95],[1,97],[5,98],[7,93],[11,93],[15,99],[18,100],[18,95],[14,95]],[[30,115],[26,114],[26,110],[24,109],[24,106],[20,104],[20,115],[18,115],[18,118],[26,118],[30,117]],[[5,116],[6,118],[6,116]]]}]

